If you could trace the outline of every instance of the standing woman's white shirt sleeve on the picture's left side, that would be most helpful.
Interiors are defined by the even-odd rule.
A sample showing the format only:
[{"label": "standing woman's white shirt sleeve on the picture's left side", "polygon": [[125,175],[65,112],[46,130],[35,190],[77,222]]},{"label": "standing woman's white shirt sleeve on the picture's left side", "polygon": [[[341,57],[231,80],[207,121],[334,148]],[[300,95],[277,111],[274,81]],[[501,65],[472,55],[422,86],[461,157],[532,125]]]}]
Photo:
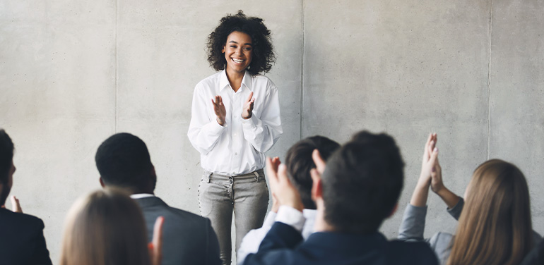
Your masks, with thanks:
[{"label": "standing woman's white shirt sleeve on the picture's left side", "polygon": [[193,94],[193,104],[191,106],[191,123],[189,124],[189,132],[187,136],[193,147],[201,154],[208,154],[217,144],[221,133],[226,128],[219,125],[214,119],[208,117],[208,107],[206,99],[203,95],[203,87],[196,85]]}]

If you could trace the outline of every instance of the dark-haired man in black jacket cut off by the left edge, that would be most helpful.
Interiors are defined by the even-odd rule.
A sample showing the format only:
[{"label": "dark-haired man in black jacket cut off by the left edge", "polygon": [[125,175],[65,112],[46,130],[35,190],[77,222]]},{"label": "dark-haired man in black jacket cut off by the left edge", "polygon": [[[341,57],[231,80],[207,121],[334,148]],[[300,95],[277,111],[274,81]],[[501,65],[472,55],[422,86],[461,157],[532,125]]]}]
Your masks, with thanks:
[{"label": "dark-haired man in black jacket cut off by the left edge", "polygon": [[18,199],[11,197],[16,212],[5,203],[13,185],[13,142],[0,129],[0,264],[52,264],[43,236],[40,218],[23,214]]}]

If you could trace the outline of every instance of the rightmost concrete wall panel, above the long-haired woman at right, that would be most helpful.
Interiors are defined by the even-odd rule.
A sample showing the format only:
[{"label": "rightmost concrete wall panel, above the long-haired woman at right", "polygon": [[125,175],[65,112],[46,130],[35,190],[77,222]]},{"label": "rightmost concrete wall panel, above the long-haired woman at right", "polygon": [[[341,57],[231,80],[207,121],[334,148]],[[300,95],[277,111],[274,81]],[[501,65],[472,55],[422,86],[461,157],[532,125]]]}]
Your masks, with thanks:
[{"label": "rightmost concrete wall panel, above the long-haired woman at right", "polygon": [[544,232],[544,1],[493,1],[490,158],[526,175],[533,229]]}]

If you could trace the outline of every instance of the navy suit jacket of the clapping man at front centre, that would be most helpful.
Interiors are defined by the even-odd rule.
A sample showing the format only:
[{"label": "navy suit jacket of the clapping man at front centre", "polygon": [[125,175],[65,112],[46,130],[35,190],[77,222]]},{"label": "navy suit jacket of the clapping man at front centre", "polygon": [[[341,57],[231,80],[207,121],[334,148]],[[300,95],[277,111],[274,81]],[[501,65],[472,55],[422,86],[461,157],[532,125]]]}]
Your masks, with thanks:
[{"label": "navy suit jacket of the clapping man at front centre", "polygon": [[259,252],[249,254],[244,264],[438,265],[437,257],[425,242],[388,241],[381,233],[313,233],[301,242],[302,236],[295,228],[276,222],[261,242]]}]

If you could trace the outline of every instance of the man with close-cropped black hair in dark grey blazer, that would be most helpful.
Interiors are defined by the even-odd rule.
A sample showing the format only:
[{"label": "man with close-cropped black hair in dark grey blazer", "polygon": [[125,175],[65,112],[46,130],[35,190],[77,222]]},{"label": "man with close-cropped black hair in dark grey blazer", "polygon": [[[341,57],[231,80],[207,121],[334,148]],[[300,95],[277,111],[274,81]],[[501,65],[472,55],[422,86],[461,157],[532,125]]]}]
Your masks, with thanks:
[{"label": "man with close-cropped black hair in dark grey blazer", "polygon": [[102,187],[126,190],[143,211],[148,239],[158,216],[163,225],[162,264],[221,264],[219,243],[210,220],[169,207],[155,197],[157,175],[146,146],[129,133],[117,133],[102,142],[95,156]]}]

